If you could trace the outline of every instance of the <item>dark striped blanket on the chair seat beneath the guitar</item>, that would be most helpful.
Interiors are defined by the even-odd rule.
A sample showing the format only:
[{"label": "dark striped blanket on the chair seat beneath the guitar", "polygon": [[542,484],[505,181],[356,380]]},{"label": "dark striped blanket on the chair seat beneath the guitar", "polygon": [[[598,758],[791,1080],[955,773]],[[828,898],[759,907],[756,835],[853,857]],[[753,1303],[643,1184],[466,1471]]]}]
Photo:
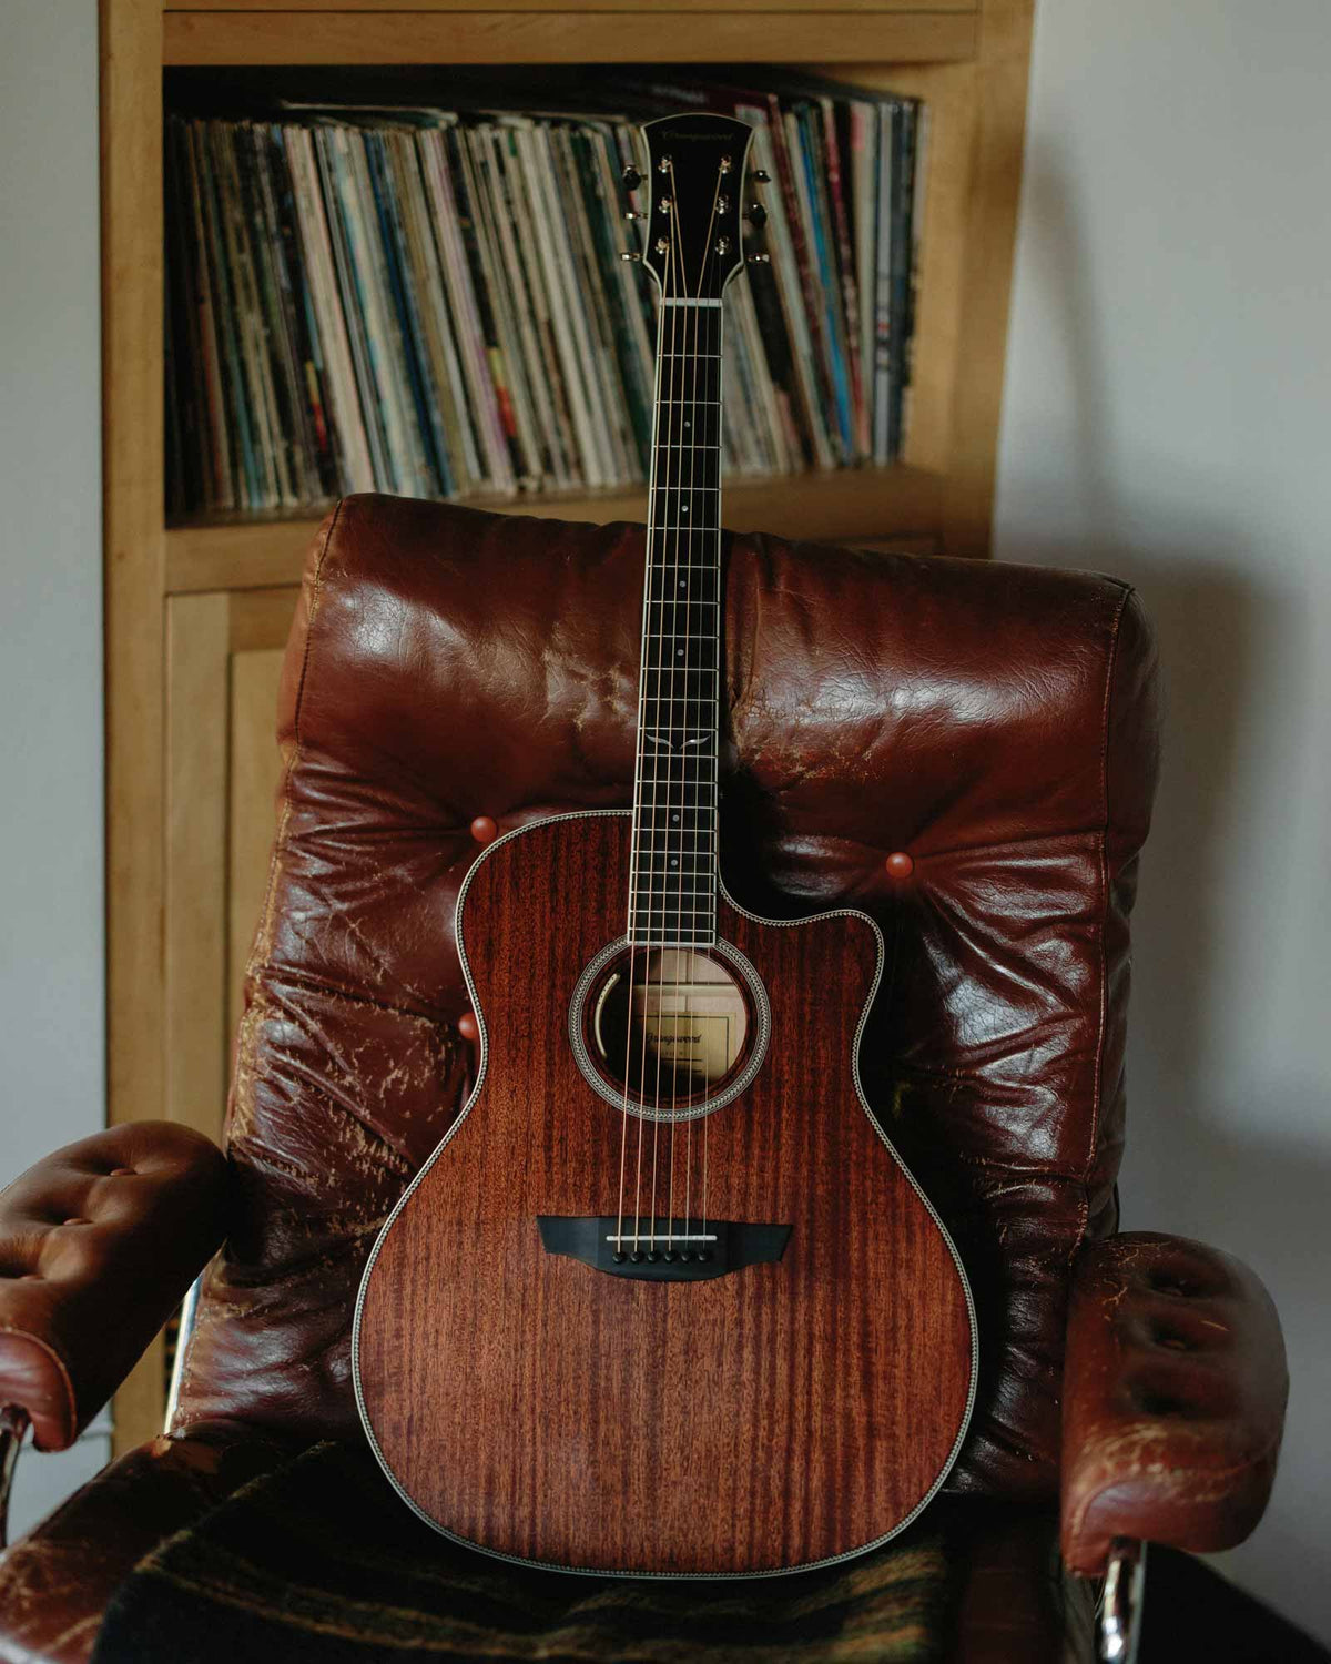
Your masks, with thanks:
[{"label": "dark striped blanket on the chair seat beneath the guitar", "polygon": [[945,1649],[952,1513],[790,1577],[576,1577],[449,1543],[368,1449],[316,1444],[140,1561],[93,1664],[927,1664]]}]

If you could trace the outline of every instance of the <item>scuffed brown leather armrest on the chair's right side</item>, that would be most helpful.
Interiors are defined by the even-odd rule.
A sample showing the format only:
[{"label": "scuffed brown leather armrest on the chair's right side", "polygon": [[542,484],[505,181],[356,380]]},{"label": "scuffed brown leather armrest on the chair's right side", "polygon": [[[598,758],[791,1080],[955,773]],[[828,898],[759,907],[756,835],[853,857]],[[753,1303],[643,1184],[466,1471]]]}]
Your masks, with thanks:
[{"label": "scuffed brown leather armrest on the chair's right side", "polygon": [[1246,1265],[1185,1236],[1090,1243],[1063,1374],[1063,1559],[1113,1538],[1208,1553],[1256,1526],[1288,1394],[1279,1318]]}]

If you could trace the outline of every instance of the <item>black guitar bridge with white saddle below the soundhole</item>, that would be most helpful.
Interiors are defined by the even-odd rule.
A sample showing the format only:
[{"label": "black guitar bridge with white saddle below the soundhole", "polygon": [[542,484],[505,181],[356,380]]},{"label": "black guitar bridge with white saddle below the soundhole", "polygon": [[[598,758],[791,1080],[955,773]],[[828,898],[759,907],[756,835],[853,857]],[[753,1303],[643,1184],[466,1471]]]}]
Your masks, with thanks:
[{"label": "black guitar bridge with white saddle below the soundhole", "polygon": [[747,1265],[774,1265],[790,1240],[789,1225],[745,1225],[730,1220],[674,1220],[656,1223],[601,1218],[564,1218],[539,1213],[536,1225],[546,1253],[581,1260],[607,1276],[632,1276],[646,1283],[705,1283]]}]

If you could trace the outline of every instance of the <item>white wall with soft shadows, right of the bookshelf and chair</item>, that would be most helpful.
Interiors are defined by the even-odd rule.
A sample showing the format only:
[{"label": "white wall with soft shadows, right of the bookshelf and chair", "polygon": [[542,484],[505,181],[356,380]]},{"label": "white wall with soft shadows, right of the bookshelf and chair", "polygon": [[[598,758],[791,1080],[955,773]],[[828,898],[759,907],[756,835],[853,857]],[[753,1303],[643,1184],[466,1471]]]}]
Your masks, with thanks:
[{"label": "white wall with soft shadows, right of the bookshelf and chair", "polygon": [[1038,0],[997,539],[1160,626],[1125,1226],[1281,1308],[1283,1468],[1221,1564],[1328,1639],[1329,73],[1324,0]]}]

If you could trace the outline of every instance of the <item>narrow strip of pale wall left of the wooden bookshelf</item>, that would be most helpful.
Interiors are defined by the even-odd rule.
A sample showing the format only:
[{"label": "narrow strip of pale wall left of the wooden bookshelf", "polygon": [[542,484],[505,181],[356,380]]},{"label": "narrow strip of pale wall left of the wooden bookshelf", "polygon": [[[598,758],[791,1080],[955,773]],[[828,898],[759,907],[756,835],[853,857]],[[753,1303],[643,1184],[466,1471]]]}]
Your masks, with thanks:
[{"label": "narrow strip of pale wall left of the wooden bookshelf", "polygon": [[[105,1120],[96,0],[0,48],[0,1185]],[[106,1459],[18,1464],[15,1534]]]}]

